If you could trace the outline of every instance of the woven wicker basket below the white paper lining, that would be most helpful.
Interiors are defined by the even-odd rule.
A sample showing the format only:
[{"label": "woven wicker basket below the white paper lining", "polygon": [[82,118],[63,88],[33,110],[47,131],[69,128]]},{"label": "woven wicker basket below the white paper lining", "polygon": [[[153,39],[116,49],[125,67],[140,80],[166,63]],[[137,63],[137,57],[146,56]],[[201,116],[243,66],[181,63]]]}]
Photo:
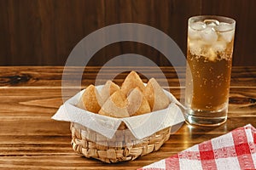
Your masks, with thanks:
[{"label": "woven wicker basket below the white paper lining", "polygon": [[171,127],[167,127],[147,138],[134,140],[129,130],[118,130],[113,139],[108,139],[75,122],[71,122],[70,130],[73,150],[85,157],[108,163],[135,160],[138,156],[159,150],[171,134]]}]

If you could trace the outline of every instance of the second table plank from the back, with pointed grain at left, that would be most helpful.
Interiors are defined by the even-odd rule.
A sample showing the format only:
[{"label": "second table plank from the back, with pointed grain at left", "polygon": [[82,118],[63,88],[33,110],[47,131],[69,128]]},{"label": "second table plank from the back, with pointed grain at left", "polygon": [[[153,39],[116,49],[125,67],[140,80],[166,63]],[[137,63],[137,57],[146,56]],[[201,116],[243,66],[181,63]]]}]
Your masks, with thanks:
[{"label": "second table plank from the back, with pointed grain at left", "polygon": [[[170,91],[180,98],[180,89],[171,88]],[[255,99],[256,88],[230,88],[230,116],[255,116]],[[61,90],[49,88],[0,88],[0,100],[0,117],[51,116],[63,104]]]}]

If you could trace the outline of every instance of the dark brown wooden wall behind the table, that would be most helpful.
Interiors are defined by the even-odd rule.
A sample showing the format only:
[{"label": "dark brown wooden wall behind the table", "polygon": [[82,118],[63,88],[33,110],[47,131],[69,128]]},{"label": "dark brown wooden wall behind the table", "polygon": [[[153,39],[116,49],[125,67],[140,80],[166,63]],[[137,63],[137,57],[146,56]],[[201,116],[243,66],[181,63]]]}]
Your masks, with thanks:
[{"label": "dark brown wooden wall behind the table", "polygon": [[[134,22],[154,26],[186,54],[187,20],[217,14],[236,20],[233,65],[256,65],[255,0],[0,0],[0,65],[65,65],[84,37],[104,26]],[[89,65],[126,53],[168,65],[154,48],[118,42],[98,51]]]}]

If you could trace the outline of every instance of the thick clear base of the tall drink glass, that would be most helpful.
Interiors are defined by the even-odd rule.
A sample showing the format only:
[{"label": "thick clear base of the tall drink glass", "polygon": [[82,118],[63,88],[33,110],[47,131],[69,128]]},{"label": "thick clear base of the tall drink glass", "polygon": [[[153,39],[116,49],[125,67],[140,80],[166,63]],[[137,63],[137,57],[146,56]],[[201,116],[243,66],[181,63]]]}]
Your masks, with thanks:
[{"label": "thick clear base of the tall drink glass", "polygon": [[190,125],[215,127],[227,121],[228,108],[219,111],[194,111],[188,109],[185,112],[185,121]]}]

